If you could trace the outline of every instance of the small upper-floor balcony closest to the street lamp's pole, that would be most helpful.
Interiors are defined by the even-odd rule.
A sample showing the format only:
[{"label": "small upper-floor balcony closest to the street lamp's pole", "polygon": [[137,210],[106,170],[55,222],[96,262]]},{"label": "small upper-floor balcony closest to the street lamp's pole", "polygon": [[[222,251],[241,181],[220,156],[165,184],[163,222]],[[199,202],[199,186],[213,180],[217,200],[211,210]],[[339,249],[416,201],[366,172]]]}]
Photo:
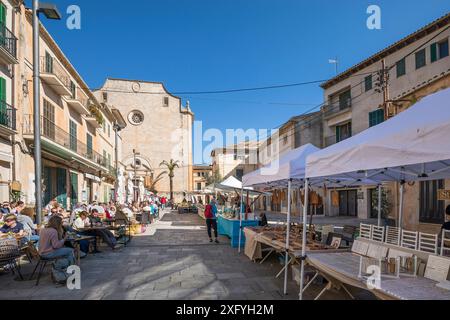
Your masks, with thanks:
[{"label": "small upper-floor balcony closest to the street lamp's pole", "polygon": [[71,96],[69,76],[63,66],[56,59],[40,58],[41,80],[49,85],[54,92],[61,96]]}]

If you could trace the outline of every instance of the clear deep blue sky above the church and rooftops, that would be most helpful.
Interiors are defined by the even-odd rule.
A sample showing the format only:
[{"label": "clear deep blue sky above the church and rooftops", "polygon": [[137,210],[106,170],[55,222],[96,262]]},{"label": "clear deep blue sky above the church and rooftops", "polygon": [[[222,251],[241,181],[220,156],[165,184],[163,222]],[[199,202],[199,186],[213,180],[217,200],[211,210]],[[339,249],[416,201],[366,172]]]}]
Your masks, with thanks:
[{"label": "clear deep blue sky above the church and rooftops", "polygon": [[[328,79],[328,59],[343,71],[450,11],[448,0],[53,2],[65,19],[69,5],[81,8],[81,30],[44,24],[91,88],[118,77],[162,81],[172,92]],[[366,27],[371,4],[381,7],[381,30]],[[275,128],[323,101],[318,84],[182,98],[204,130]]]}]

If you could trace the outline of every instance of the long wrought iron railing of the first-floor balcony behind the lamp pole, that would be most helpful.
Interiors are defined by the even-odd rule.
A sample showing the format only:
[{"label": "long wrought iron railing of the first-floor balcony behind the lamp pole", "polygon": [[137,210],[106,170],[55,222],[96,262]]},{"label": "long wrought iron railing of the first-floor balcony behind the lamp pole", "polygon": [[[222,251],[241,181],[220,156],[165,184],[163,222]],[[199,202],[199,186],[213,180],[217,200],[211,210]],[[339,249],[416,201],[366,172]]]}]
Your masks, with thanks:
[{"label": "long wrought iron railing of the first-floor balcony behind the lamp pole", "polygon": [[[25,115],[23,121],[23,134],[34,134],[33,128],[33,116]],[[108,159],[44,117],[41,117],[41,135],[42,137],[50,139],[62,147],[72,150],[85,159],[95,162],[104,168],[108,168]]]}]

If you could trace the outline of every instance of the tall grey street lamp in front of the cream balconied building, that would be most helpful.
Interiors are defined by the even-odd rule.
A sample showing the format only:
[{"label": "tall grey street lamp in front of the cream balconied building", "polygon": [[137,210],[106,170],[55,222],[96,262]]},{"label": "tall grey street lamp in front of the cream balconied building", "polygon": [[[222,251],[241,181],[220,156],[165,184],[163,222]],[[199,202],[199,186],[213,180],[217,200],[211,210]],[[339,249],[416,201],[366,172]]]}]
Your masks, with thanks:
[{"label": "tall grey street lamp in front of the cream balconied building", "polygon": [[39,81],[39,13],[47,19],[60,20],[61,14],[55,5],[39,4],[33,0],[33,119],[34,119],[34,186],[36,199],[36,223],[42,221],[42,154],[41,154],[41,104]]}]

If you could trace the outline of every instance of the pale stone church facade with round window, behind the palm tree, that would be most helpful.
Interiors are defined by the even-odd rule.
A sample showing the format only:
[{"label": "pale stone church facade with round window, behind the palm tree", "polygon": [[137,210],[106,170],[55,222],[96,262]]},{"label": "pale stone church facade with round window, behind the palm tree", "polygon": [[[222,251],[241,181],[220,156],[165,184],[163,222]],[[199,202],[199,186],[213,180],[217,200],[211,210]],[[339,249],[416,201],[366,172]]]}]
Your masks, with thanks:
[{"label": "pale stone church facade with round window, behind the palm tree", "polygon": [[[161,162],[178,161],[173,191],[176,202],[192,191],[192,127],[194,114],[189,104],[170,94],[162,83],[108,78],[94,92],[97,99],[117,108],[127,121],[120,131],[123,140],[119,162],[123,174],[136,189],[135,200],[142,197],[143,183],[158,195],[169,197],[170,182]],[[127,188],[129,189],[129,188]]]}]

